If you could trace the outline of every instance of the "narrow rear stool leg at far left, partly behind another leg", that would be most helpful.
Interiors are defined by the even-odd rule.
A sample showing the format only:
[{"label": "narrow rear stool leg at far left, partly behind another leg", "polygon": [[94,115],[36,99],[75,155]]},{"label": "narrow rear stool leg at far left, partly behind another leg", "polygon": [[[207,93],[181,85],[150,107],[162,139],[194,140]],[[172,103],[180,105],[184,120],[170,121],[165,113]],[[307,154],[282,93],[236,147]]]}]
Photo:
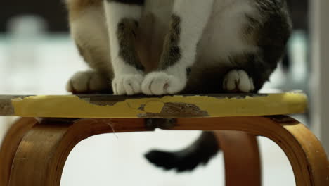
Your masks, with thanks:
[{"label": "narrow rear stool leg at far left, partly behind another leg", "polygon": [[24,135],[38,121],[34,118],[20,118],[9,128],[0,149],[0,185],[8,186],[11,165]]}]

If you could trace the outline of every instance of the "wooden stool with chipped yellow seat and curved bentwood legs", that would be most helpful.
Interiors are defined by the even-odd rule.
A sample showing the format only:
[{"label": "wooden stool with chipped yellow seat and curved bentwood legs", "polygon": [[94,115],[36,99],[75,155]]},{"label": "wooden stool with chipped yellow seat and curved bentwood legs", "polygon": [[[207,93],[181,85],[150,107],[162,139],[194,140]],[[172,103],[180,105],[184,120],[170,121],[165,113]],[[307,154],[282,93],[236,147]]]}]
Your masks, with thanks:
[{"label": "wooden stool with chipped yellow seat and curved bentwood legs", "polygon": [[[86,137],[160,127],[216,131],[224,151],[226,185],[261,185],[256,140],[260,135],[283,149],[297,186],[326,186],[329,163],[321,143],[306,126],[286,116],[303,113],[306,108],[306,96],[296,92],[166,97],[0,96],[1,116],[23,117],[8,131],[1,146],[0,185],[58,186],[67,156]],[[172,123],[152,123],[155,120],[150,118],[175,119]]]}]

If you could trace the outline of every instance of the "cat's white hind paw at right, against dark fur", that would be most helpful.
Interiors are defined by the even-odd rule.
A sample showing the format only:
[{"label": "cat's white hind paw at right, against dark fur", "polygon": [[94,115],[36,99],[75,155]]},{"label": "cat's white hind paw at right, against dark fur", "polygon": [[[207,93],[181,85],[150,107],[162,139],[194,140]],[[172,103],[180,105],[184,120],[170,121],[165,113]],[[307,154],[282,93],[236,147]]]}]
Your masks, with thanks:
[{"label": "cat's white hind paw at right, against dark fur", "polygon": [[254,80],[245,70],[231,70],[224,77],[223,89],[228,92],[252,92]]}]

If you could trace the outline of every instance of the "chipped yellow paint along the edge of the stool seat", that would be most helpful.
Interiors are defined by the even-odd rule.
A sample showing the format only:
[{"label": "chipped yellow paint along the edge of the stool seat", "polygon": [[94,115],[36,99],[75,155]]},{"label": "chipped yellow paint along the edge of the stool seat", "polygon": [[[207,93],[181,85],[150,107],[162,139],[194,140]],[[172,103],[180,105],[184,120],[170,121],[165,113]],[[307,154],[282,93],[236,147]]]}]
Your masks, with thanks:
[{"label": "chipped yellow paint along the edge of the stool seat", "polygon": [[[15,116],[53,118],[138,118],[143,113],[159,113],[161,117],[166,103],[193,104],[206,111],[209,117],[269,116],[303,113],[307,109],[307,97],[292,92],[243,99],[210,96],[151,97],[126,99],[112,106],[91,104],[74,95],[12,99]],[[195,116],[191,115],[191,118]]]}]

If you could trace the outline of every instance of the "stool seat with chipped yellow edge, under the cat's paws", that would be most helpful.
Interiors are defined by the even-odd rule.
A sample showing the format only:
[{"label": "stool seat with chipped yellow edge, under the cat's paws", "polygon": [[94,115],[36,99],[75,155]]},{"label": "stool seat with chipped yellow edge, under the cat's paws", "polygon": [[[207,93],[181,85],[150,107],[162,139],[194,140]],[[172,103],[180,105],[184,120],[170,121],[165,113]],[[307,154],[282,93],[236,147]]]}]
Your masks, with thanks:
[{"label": "stool seat with chipped yellow edge, under the cat's paws", "polygon": [[114,95],[0,96],[0,116],[40,118],[218,118],[304,113],[302,92],[200,94],[163,97]]}]

